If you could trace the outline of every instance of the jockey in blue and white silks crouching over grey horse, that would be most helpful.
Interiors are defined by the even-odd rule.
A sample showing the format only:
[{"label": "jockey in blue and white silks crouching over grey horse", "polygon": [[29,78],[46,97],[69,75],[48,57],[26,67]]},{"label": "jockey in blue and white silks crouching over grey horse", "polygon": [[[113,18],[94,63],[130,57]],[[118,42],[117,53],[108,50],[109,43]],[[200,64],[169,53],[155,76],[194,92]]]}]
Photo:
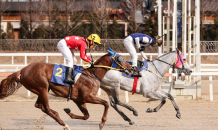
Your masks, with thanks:
[{"label": "jockey in blue and white silks crouching over grey horse", "polygon": [[133,33],[124,39],[124,46],[129,52],[132,62],[132,67],[134,69],[133,76],[141,77],[141,74],[137,72],[137,52],[134,47],[139,48],[139,52],[145,60],[148,60],[146,55],[144,54],[145,47],[151,45],[152,47],[161,46],[163,43],[162,37],[156,36],[155,38],[151,38],[150,36],[142,33]]}]

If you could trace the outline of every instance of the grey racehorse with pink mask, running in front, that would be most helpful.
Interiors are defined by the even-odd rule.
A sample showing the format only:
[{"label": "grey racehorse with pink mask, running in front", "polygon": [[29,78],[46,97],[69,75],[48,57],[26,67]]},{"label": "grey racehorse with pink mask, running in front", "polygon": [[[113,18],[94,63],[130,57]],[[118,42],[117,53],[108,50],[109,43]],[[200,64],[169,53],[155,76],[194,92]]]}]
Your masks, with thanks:
[{"label": "grey racehorse with pink mask, running in front", "polygon": [[[148,64],[147,70],[142,70],[140,73],[142,77],[138,79],[136,93],[141,94],[146,98],[161,100],[161,104],[154,109],[148,108],[146,112],[157,112],[166,102],[166,98],[170,99],[175,110],[177,111],[176,117],[181,118],[179,107],[176,105],[174,98],[171,94],[161,90],[161,82],[165,73],[168,72],[170,67],[180,69],[185,75],[190,75],[192,70],[187,64],[186,58],[179,50],[172,51],[154,59]],[[113,81],[113,82],[112,82]],[[121,117],[128,121],[130,125],[134,122],[131,121],[118,107],[123,106],[138,116],[137,111],[119,100],[120,89],[131,92],[133,89],[134,79],[122,76],[122,72],[110,70],[103,78],[100,87],[108,94],[110,105],[121,115]]]}]

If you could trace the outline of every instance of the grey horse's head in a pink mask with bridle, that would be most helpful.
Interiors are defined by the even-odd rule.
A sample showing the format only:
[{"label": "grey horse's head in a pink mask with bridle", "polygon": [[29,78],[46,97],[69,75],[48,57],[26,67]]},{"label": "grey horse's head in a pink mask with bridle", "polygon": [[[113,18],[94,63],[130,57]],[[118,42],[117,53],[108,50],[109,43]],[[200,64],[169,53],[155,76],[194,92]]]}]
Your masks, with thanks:
[{"label": "grey horse's head in a pink mask with bridle", "polygon": [[176,60],[174,65],[176,68],[179,68],[185,75],[190,75],[192,73],[192,70],[187,63],[185,56],[179,50],[176,51]]}]

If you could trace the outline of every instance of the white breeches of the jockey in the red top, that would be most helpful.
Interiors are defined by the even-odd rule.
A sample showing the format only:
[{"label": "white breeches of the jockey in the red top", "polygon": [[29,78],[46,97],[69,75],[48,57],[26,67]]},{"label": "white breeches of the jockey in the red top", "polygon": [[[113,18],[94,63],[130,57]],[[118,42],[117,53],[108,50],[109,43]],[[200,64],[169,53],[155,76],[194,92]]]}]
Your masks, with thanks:
[{"label": "white breeches of the jockey in the red top", "polygon": [[68,67],[73,67],[76,64],[77,59],[74,56],[73,50],[71,50],[64,39],[60,40],[57,44],[58,50],[64,56],[67,61]]}]

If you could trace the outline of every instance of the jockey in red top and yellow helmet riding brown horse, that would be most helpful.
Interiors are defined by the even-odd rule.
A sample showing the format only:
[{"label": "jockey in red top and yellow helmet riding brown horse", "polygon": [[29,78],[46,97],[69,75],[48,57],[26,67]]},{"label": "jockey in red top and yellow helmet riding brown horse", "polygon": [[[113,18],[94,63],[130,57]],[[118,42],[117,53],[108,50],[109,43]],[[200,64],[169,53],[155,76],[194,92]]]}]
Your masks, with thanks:
[{"label": "jockey in red top and yellow helmet riding brown horse", "polygon": [[97,34],[91,34],[88,38],[67,36],[58,42],[57,48],[67,61],[66,78],[64,82],[70,84],[74,83],[74,77],[72,76],[74,72],[72,67],[76,64],[77,60],[73,50],[79,50],[80,57],[84,61],[93,64],[91,59],[86,55],[86,49],[93,49],[96,44],[101,44],[101,39]]}]

